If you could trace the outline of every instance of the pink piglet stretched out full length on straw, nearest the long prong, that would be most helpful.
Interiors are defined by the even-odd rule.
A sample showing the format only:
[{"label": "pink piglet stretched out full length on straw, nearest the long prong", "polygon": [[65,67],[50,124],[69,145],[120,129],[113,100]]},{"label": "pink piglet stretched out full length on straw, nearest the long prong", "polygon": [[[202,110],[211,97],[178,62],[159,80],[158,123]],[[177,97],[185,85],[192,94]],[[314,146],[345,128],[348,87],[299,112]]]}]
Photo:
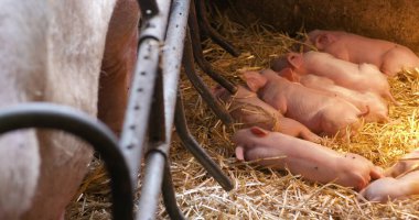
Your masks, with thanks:
[{"label": "pink piglet stretched out full length on straw, nearest the long prong", "polygon": [[288,169],[311,182],[334,182],[361,190],[370,179],[382,177],[379,167],[357,154],[340,154],[325,146],[257,127],[237,131],[233,141],[238,160]]}]

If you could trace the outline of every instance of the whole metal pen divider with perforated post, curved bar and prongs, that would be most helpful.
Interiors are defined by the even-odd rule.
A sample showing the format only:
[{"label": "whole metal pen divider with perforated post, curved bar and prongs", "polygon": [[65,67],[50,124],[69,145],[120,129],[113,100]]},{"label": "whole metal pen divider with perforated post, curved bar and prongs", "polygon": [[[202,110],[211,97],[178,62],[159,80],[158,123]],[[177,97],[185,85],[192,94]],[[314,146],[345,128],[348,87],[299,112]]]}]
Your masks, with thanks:
[{"label": "whole metal pen divider with perforated post, curved bar and prongs", "polygon": [[[203,9],[204,1],[198,1],[202,2],[196,7]],[[0,134],[28,128],[55,129],[89,143],[100,154],[110,176],[112,219],[135,219],[133,194],[144,157],[136,219],[155,218],[160,193],[170,218],[184,219],[176,205],[168,162],[173,125],[184,146],[225,190],[232,190],[234,185],[189,132],[179,89],[183,50],[186,51],[183,66],[189,69],[187,78],[225,123],[232,119],[194,72],[194,62],[232,94],[237,87],[212,69],[203,57],[201,40],[196,37],[198,29],[213,41],[224,42],[221,45],[227,47],[229,53],[237,55],[238,52],[211,29],[203,18],[204,13],[195,13],[193,0],[138,0],[138,3],[142,12],[138,59],[119,141],[104,123],[90,116],[71,107],[45,102],[2,109]],[[193,11],[192,16],[190,10]],[[195,25],[196,16],[201,19],[198,25]],[[193,31],[191,21],[194,22]]]}]

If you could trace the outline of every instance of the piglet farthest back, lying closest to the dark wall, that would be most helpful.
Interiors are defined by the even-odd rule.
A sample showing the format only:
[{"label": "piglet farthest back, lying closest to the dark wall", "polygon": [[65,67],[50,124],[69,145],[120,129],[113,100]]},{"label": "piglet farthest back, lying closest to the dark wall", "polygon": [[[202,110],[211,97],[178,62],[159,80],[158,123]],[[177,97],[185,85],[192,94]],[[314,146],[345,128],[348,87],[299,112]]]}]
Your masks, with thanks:
[{"label": "piglet farthest back, lying closest to the dark wall", "polygon": [[395,76],[404,68],[419,67],[419,57],[411,50],[388,41],[315,30],[309,33],[307,43],[344,61],[374,64],[388,76]]}]

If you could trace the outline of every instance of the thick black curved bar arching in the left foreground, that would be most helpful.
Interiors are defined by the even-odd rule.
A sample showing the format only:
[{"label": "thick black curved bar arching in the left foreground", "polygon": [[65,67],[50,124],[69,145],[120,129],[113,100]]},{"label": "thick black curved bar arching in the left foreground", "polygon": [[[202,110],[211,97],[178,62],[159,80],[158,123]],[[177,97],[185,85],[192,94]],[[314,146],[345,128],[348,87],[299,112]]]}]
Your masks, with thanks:
[{"label": "thick black curved bar arching in the left foreground", "polygon": [[128,164],[117,138],[100,121],[69,107],[34,102],[0,110],[0,134],[28,128],[58,129],[72,133],[99,152],[110,176],[114,219],[133,219],[133,194]]}]

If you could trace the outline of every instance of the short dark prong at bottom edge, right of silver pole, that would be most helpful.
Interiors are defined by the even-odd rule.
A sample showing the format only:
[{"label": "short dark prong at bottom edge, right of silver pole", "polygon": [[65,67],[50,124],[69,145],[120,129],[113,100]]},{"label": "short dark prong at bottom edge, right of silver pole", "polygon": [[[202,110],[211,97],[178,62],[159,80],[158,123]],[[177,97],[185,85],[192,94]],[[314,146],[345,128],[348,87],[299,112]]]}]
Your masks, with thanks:
[{"label": "short dark prong at bottom edge, right of silver pole", "polygon": [[176,204],[176,197],[174,193],[173,180],[172,180],[172,175],[170,173],[169,163],[165,163],[165,166],[164,166],[162,191],[163,191],[164,206],[169,213],[169,217],[171,219],[176,219],[176,220],[185,219],[185,217],[183,216],[181,209],[179,209],[178,204]]}]

